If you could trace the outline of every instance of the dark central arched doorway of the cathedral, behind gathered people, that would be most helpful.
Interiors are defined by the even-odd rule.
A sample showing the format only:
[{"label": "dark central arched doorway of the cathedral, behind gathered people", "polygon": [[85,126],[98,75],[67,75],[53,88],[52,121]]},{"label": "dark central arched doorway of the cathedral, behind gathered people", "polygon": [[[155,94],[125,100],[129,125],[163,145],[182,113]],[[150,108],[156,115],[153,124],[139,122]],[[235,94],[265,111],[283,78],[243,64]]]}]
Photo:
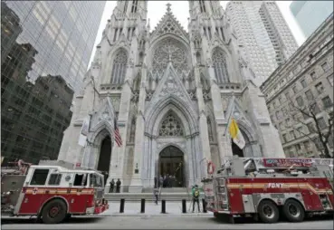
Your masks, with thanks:
[{"label": "dark central arched doorway of the cathedral, behind gathered people", "polygon": [[183,152],[174,146],[168,146],[159,154],[158,162],[159,176],[172,176],[167,180],[167,187],[184,187],[184,156]]}]

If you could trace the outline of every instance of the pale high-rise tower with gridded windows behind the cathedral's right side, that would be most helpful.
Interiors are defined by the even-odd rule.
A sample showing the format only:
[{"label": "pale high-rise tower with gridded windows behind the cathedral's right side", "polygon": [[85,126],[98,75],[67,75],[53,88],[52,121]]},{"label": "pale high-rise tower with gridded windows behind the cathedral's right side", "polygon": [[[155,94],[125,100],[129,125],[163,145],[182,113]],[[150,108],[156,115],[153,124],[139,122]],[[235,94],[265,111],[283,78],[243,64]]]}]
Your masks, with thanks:
[{"label": "pale high-rise tower with gridded windows behind the cathedral's right side", "polygon": [[259,85],[298,48],[275,2],[230,1],[226,14]]}]

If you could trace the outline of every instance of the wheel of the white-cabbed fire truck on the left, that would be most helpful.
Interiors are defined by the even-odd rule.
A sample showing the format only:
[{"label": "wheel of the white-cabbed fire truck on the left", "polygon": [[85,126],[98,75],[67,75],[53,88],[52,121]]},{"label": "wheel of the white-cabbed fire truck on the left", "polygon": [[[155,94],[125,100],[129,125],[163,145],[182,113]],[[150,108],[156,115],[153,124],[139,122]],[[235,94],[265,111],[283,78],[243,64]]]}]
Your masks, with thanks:
[{"label": "wheel of the white-cabbed fire truck on the left", "polygon": [[42,219],[44,224],[61,223],[67,216],[67,206],[61,199],[54,199],[43,207]]}]

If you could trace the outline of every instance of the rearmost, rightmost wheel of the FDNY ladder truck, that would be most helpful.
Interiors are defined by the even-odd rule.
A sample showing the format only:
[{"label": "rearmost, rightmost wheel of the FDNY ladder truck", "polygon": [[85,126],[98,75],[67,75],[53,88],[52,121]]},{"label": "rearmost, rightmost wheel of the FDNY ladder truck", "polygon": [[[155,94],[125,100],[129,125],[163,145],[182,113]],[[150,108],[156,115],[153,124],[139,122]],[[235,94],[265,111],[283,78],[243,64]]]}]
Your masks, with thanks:
[{"label": "rearmost, rightmost wheel of the FDNY ladder truck", "polygon": [[293,199],[289,199],[283,206],[283,213],[291,222],[301,222],[304,220],[305,211],[301,204]]}]

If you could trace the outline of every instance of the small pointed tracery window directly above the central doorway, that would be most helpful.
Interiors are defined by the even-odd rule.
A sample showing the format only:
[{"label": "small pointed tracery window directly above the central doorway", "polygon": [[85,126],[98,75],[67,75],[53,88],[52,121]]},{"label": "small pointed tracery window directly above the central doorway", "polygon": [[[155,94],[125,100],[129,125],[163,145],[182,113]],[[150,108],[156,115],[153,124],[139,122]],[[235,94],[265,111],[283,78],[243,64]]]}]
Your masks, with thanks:
[{"label": "small pointed tracery window directly above the central doorway", "polygon": [[162,121],[159,129],[159,136],[162,137],[182,137],[184,131],[181,123],[173,114],[169,114],[165,120]]}]

